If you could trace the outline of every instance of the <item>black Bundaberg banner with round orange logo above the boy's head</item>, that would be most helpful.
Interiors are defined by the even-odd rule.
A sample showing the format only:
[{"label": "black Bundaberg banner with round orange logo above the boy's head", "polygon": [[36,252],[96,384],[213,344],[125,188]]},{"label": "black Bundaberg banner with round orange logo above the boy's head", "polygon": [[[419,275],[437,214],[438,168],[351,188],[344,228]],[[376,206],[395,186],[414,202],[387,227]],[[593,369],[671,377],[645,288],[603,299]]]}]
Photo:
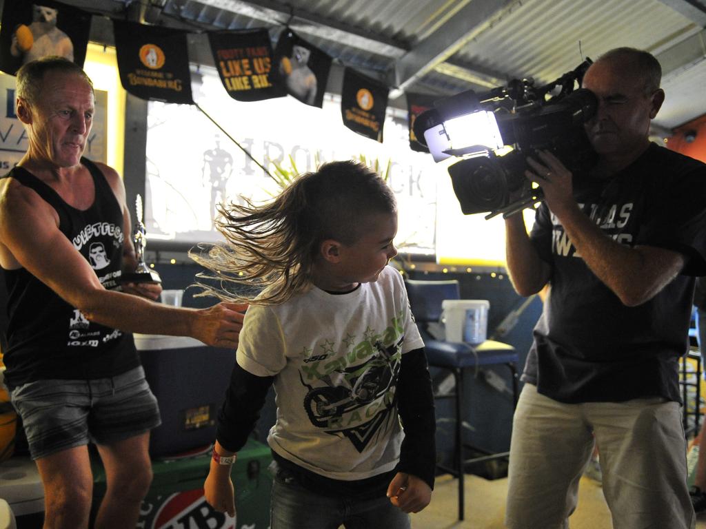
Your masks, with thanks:
[{"label": "black Bundaberg banner with round orange logo above the boy's head", "polygon": [[382,143],[388,93],[388,87],[383,83],[345,68],[341,90],[343,124],[360,135]]}]

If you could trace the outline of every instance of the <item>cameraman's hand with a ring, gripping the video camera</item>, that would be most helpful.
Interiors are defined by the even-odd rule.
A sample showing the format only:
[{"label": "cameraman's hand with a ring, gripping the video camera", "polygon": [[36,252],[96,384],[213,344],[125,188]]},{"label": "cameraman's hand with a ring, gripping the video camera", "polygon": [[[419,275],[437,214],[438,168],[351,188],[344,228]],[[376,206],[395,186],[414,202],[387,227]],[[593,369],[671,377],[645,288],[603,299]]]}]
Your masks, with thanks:
[{"label": "cameraman's hand with a ring, gripping the video camera", "polygon": [[527,157],[532,170],[527,169],[525,176],[542,188],[546,205],[561,218],[568,207],[576,207],[571,171],[549,151],[537,151],[537,157],[539,160]]}]

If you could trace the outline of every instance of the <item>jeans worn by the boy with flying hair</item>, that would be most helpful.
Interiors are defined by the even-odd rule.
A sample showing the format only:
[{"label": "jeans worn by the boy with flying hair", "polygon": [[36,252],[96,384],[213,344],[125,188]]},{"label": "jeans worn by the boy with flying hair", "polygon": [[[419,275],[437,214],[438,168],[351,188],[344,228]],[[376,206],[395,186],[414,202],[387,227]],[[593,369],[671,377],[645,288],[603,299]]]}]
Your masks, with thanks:
[{"label": "jeans worn by the boy with flying hair", "polygon": [[301,487],[277,471],[272,488],[270,529],[409,529],[409,515],[383,494],[373,499],[330,497]]}]

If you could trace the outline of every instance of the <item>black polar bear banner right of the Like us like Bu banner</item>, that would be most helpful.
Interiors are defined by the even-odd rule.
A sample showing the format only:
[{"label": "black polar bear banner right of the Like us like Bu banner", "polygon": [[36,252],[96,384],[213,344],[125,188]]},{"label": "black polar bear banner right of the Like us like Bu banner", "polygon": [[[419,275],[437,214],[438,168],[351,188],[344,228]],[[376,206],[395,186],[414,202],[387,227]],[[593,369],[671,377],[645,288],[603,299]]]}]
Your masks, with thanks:
[{"label": "black polar bear banner right of the Like us like Bu banner", "polygon": [[331,57],[285,28],[275,48],[279,83],[312,107],[323,107]]}]

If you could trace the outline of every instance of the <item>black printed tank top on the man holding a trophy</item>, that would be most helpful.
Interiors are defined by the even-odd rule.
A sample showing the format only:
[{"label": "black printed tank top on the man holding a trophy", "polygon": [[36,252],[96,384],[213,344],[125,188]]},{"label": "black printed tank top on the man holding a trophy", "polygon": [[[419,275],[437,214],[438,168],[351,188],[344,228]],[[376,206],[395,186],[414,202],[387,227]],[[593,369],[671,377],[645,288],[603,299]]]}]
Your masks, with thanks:
[{"label": "black printed tank top on the man holding a trophy", "polygon": [[[66,204],[22,167],[3,178],[15,178],[54,207],[59,230],[90,263],[104,288],[119,290],[126,236],[122,210],[100,169],[85,158],[81,163],[95,188],[95,200],[84,211]],[[24,268],[4,270],[4,275],[8,345],[3,362],[8,387],[37,379],[112,377],[140,364],[132,334],[89,322]]]}]

